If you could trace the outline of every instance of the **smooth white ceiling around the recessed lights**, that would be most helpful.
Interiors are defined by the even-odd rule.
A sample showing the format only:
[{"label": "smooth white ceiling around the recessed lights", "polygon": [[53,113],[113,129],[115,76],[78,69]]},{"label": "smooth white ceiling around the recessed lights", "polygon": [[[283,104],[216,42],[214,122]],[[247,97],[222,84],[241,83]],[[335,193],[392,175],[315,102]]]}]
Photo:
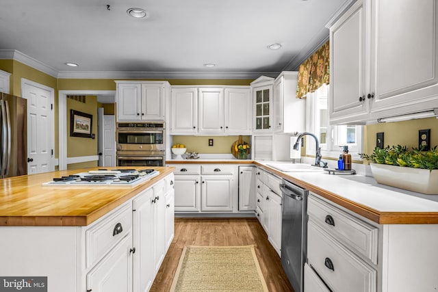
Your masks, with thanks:
[{"label": "smooth white ceiling around the recessed lights", "polygon": [[[296,69],[351,1],[3,0],[0,50],[36,59],[57,77],[253,79]],[[150,16],[131,18],[128,8]],[[267,48],[276,42],[283,47]]]}]

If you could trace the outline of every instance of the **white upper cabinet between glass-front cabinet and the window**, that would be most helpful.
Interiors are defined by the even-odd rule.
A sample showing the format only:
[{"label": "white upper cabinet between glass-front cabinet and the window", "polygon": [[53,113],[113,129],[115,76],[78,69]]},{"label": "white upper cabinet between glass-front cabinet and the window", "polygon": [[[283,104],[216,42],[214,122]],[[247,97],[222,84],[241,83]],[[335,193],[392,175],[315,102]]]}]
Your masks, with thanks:
[{"label": "white upper cabinet between glass-front cabinet and the window", "polygon": [[283,71],[274,81],[274,131],[305,132],[306,99],[296,98],[298,72]]}]

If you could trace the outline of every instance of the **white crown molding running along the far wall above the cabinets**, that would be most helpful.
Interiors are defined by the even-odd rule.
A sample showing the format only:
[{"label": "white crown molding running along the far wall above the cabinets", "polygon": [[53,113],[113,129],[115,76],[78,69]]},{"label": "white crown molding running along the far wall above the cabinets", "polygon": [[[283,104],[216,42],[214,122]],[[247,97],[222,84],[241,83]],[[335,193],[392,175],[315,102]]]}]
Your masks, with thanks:
[{"label": "white crown molding running along the far wall above the cabinets", "polygon": [[59,79],[256,79],[261,75],[276,77],[280,72],[122,72],[60,71]]}]

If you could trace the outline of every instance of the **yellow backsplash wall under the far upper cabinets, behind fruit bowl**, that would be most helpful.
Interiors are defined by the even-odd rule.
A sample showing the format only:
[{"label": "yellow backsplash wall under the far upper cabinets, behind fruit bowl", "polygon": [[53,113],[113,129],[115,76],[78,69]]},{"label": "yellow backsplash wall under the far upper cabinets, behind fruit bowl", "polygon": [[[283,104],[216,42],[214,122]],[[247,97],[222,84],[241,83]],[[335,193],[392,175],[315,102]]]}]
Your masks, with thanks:
[{"label": "yellow backsplash wall under the far upper cabinets, behind fruit bowl", "polygon": [[[197,153],[231,153],[231,145],[239,140],[239,136],[172,136],[173,144],[184,144],[187,152]],[[208,140],[213,139],[213,146],[208,146]],[[250,143],[250,136],[242,136],[244,142]],[[169,142],[170,143],[170,142]]]}]

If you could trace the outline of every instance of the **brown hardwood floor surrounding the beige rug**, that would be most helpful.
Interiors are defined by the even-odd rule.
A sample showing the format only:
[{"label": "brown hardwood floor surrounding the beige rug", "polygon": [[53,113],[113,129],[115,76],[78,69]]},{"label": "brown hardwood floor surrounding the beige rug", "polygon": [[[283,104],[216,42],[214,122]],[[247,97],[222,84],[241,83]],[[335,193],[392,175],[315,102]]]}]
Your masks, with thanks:
[{"label": "brown hardwood floor surrounding the beige rug", "polygon": [[294,292],[279,255],[257,219],[175,219],[175,238],[151,292],[169,291],[184,245],[255,245],[261,271],[271,292]]}]

